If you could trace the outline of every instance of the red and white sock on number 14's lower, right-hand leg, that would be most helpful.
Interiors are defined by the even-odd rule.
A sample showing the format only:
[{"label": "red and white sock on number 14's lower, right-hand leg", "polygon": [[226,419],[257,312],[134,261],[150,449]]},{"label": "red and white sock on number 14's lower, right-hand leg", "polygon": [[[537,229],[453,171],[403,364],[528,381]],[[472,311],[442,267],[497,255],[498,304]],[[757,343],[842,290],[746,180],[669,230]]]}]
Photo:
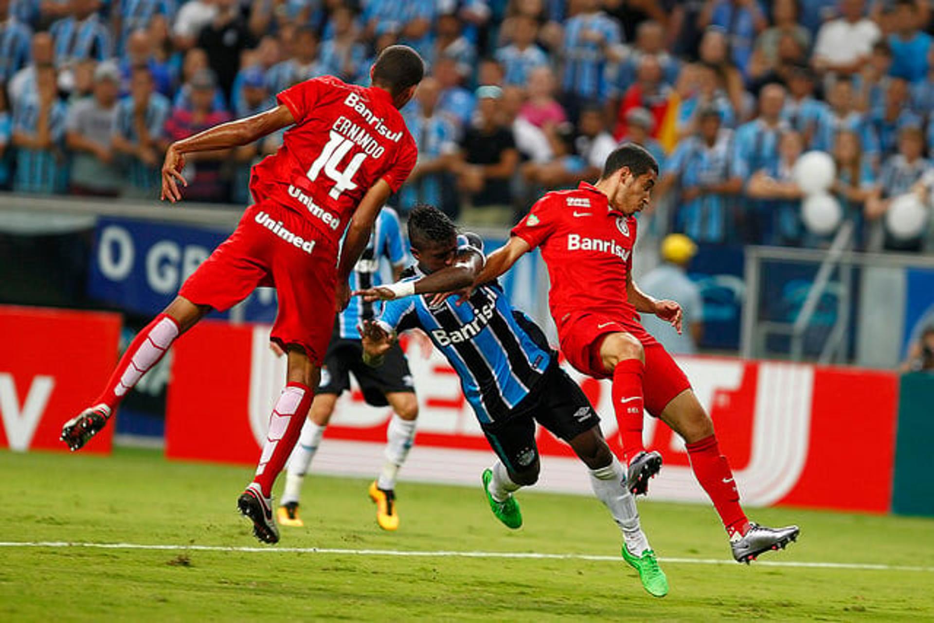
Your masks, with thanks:
[{"label": "red and white sock on number 14's lower, right-hand leg", "polygon": [[262,446],[260,464],[256,467],[253,482],[262,489],[262,494],[270,497],[276,476],[289,460],[292,448],[302,433],[302,425],[311,407],[314,392],[303,383],[289,383],[273,408],[269,418],[269,432],[266,443]]}]

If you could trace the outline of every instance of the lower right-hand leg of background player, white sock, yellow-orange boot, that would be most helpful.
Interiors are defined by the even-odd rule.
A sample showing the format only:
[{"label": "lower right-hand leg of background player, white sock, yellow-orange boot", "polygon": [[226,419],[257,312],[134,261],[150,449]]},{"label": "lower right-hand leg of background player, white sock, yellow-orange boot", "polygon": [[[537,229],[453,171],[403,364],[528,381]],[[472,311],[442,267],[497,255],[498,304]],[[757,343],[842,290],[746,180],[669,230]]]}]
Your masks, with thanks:
[{"label": "lower right-hand leg of background player, white sock, yellow-orange boot", "polygon": [[390,391],[386,400],[392,407],[392,417],[386,430],[386,460],[379,477],[370,485],[370,499],[376,504],[376,523],[383,530],[399,528],[396,509],[396,475],[403,466],[415,439],[418,401],[410,391]]}]

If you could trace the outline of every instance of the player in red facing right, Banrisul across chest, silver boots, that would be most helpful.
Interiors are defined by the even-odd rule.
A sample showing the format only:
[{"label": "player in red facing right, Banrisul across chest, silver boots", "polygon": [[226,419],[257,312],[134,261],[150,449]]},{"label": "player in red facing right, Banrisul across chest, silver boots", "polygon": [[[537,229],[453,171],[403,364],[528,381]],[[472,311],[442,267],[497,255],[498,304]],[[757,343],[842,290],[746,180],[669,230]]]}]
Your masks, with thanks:
[{"label": "player in red facing right, Banrisul across chest, silver boots", "polygon": [[771,529],[746,518],[714,422],[684,372],[639,322],[640,313],[656,314],[681,330],[680,305],[653,299],[632,280],[635,214],[648,205],[657,177],[658,163],[647,151],[633,144],[617,148],[595,185],[549,192],[533,205],[474,283],[495,279],[522,254],[542,249],[561,351],[580,372],[613,379],[628,487],[645,493],[648,478],[661,467],[661,455],[643,446],[644,406],[685,439],[691,467],[723,520],[733,557],[748,562],[785,547],[799,529]]}]

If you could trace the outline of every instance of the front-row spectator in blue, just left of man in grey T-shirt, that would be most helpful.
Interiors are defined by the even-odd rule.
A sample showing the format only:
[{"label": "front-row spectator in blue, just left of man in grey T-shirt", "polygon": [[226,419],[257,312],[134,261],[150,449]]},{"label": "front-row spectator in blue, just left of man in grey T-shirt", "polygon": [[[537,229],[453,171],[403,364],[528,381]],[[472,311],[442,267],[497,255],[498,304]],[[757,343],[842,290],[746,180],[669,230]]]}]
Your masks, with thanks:
[{"label": "front-row spectator in blue, just left of man in grey T-shirt", "polygon": [[59,98],[53,65],[35,68],[35,92],[13,106],[16,175],[13,191],[63,192],[68,180],[63,139],[67,106]]}]

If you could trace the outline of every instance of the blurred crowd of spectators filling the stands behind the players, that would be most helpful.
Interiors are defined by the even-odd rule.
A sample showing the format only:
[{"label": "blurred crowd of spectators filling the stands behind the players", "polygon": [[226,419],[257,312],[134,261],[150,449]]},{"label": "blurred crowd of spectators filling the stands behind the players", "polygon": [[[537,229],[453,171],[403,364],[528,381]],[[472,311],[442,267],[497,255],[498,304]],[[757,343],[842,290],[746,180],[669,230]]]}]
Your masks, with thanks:
[{"label": "blurred crowd of spectators filling the stands behind the players", "polygon": [[[403,110],[419,160],[399,196],[508,224],[597,177],[621,141],[661,165],[661,232],[820,247],[794,163],[836,163],[859,246],[934,186],[929,0],[0,0],[0,189],[155,198],[173,140],[274,106],[291,84],[365,84],[375,54],[429,66]],[[186,198],[248,204],[281,137],[192,157]]]}]

